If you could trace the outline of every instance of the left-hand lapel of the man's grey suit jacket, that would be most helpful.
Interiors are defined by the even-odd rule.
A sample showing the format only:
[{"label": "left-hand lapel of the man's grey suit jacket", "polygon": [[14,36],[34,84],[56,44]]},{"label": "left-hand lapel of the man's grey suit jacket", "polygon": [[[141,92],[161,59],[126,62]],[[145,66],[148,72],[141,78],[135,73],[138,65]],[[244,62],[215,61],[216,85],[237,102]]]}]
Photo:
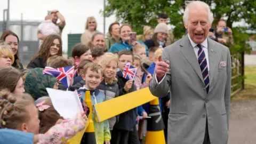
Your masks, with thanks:
[{"label": "left-hand lapel of the man's grey suit jacket", "polygon": [[195,70],[201,81],[204,82],[195,51],[189,41],[188,35],[183,37],[180,41],[180,52],[184,55],[191,67]]}]

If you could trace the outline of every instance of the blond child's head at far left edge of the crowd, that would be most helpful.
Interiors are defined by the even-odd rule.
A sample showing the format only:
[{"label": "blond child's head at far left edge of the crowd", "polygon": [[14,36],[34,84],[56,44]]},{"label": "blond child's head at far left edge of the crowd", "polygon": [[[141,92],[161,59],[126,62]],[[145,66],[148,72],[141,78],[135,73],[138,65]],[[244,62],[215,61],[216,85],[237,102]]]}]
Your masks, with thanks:
[{"label": "blond child's head at far left edge of the crowd", "polygon": [[11,67],[14,62],[14,56],[11,49],[0,44],[0,67]]}]

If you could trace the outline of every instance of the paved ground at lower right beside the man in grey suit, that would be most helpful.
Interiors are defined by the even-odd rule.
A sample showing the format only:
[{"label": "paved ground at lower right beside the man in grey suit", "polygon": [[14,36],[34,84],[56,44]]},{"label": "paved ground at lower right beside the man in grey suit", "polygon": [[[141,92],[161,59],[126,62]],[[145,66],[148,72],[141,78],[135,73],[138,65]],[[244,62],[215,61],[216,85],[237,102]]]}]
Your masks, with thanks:
[{"label": "paved ground at lower right beside the man in grey suit", "polygon": [[232,102],[228,144],[251,143],[256,143],[256,100]]}]

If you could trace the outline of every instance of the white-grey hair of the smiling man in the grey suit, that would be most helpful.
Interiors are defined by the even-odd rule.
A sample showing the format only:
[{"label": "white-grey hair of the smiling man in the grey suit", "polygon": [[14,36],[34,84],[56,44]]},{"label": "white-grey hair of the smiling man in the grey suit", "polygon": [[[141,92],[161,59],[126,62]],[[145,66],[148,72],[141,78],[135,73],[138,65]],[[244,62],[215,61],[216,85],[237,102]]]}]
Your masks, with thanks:
[{"label": "white-grey hair of the smiling man in the grey suit", "polygon": [[185,24],[188,24],[189,9],[193,9],[195,7],[203,7],[204,9],[206,9],[207,14],[208,14],[208,21],[210,22],[210,24],[212,24],[213,13],[211,12],[209,5],[207,5],[206,3],[201,2],[201,1],[186,1],[185,6],[186,6],[186,9],[183,14],[183,22]]}]

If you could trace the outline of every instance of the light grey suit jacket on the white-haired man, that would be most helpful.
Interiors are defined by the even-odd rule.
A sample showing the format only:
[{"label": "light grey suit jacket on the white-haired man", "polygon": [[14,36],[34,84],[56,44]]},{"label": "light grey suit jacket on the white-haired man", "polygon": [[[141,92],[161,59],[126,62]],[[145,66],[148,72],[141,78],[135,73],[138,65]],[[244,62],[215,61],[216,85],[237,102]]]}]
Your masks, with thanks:
[{"label": "light grey suit jacket on the white-haired man", "polygon": [[167,143],[202,144],[206,118],[211,144],[228,142],[230,52],[228,47],[210,38],[207,43],[210,62],[208,94],[188,35],[165,47],[162,59],[170,61],[170,71],[160,84],[155,74],[149,83],[149,90],[156,97],[164,97],[169,90],[172,95]]}]

